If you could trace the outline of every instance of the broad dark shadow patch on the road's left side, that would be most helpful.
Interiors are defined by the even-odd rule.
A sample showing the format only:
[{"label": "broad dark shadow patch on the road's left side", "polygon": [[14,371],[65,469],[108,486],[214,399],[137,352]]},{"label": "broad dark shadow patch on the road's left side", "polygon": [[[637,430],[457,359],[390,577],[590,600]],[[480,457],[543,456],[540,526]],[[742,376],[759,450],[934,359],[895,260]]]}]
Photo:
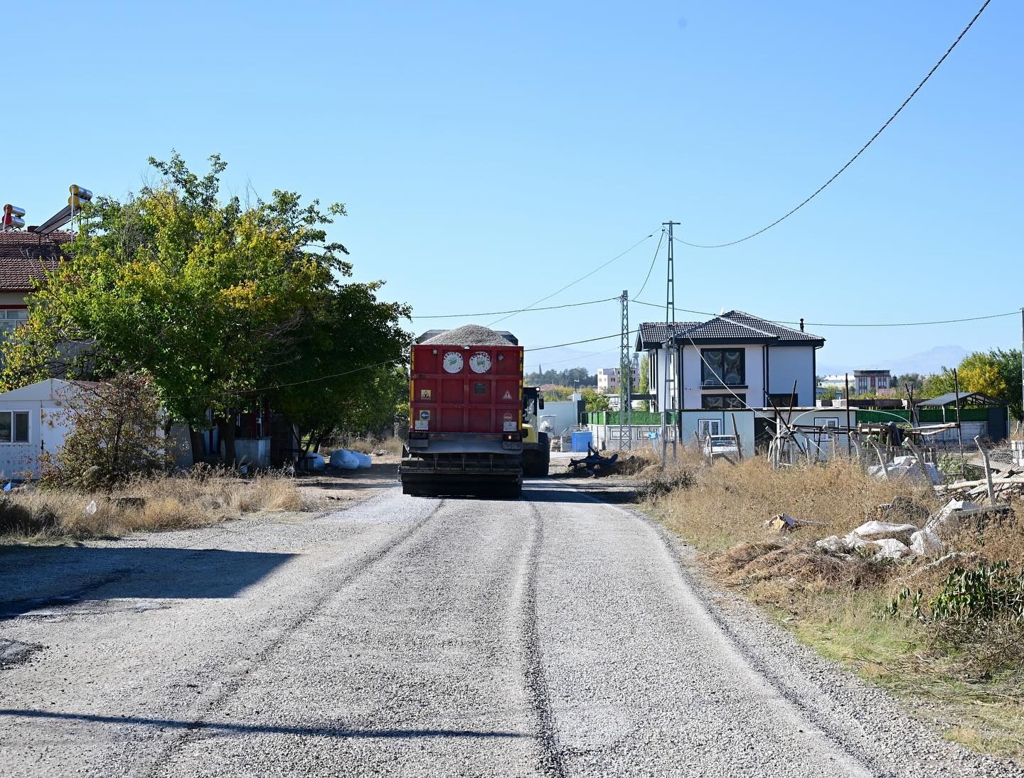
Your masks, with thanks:
[{"label": "broad dark shadow patch on the road's left side", "polygon": [[27,548],[5,555],[0,592],[10,599],[0,601],[0,620],[84,599],[236,597],[294,556],[220,549]]}]

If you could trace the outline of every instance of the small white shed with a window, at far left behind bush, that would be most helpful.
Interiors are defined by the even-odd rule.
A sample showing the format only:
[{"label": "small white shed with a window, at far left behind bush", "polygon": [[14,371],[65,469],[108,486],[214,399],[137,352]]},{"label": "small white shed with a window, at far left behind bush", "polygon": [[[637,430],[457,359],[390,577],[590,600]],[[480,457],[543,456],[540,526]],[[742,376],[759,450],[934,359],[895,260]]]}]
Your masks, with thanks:
[{"label": "small white shed with a window, at far left behind bush", "polygon": [[83,387],[51,378],[0,394],[0,478],[39,475],[39,456],[60,448],[71,432],[68,403]]}]

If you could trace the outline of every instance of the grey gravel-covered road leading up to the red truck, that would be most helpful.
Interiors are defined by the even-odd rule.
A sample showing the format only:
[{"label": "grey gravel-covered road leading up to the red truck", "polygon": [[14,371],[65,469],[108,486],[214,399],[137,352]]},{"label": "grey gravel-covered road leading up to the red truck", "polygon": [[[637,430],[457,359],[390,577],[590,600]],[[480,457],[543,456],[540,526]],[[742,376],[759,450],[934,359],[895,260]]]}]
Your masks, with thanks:
[{"label": "grey gravel-covered road leading up to the red truck", "polygon": [[1019,774],[687,554],[551,479],[2,552],[0,775]]}]

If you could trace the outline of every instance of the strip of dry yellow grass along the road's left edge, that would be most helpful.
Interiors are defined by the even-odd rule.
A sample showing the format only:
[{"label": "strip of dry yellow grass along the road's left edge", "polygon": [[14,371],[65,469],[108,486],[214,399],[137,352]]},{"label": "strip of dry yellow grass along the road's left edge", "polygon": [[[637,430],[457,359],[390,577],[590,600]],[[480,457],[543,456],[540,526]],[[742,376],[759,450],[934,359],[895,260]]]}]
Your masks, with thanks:
[{"label": "strip of dry yellow grass along the road's left edge", "polygon": [[301,509],[294,479],[273,475],[242,479],[196,471],[139,478],[110,493],[19,487],[0,498],[0,543],[112,537]]}]

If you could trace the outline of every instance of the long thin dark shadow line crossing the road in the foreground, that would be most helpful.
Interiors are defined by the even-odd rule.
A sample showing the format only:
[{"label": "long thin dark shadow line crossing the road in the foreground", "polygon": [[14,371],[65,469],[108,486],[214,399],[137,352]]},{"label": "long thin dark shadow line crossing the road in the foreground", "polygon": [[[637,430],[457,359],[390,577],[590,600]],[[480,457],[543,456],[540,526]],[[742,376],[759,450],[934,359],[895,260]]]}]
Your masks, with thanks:
[{"label": "long thin dark shadow line crossing the road in the foreground", "polygon": [[62,719],[95,724],[127,724],[164,729],[206,730],[231,734],[269,733],[281,735],[311,735],[319,737],[532,737],[519,732],[487,732],[441,729],[343,729],[340,727],[286,727],[275,724],[231,724],[226,722],[183,722],[174,719],[143,719],[135,716],[96,716],[94,714],[60,714],[49,710],[0,709],[0,716],[20,716],[30,719]]}]

